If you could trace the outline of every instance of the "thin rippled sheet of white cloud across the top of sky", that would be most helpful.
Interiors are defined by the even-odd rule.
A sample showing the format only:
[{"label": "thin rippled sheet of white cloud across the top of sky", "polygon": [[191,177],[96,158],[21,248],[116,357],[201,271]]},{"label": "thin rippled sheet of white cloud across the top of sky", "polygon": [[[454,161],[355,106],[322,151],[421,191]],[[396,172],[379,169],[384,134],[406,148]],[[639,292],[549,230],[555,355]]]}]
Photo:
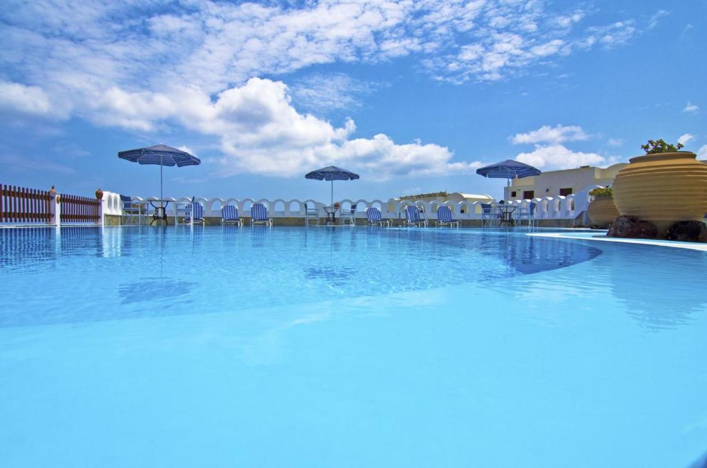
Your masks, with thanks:
[{"label": "thin rippled sheet of white cloud across the top of sky", "polygon": [[571,33],[587,14],[508,0],[332,0],[300,8],[208,0],[25,2],[0,13],[6,46],[0,61],[33,83],[70,88],[126,88],[129,81],[217,93],[252,76],[411,54],[443,80],[496,80],[595,42],[626,42],[635,30],[631,21],[615,22],[578,32],[577,39]]}]

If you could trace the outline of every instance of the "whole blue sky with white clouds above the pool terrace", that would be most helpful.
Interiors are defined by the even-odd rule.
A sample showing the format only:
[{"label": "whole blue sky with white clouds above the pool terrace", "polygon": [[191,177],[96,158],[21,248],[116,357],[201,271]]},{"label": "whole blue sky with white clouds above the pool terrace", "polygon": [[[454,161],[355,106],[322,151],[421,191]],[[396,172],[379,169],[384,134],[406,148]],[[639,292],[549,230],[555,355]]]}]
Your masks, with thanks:
[{"label": "whole blue sky with white clouds above the pool terrace", "polygon": [[707,159],[707,0],[5,0],[0,183],[165,196],[501,197],[517,159],[606,167],[648,139]]}]

